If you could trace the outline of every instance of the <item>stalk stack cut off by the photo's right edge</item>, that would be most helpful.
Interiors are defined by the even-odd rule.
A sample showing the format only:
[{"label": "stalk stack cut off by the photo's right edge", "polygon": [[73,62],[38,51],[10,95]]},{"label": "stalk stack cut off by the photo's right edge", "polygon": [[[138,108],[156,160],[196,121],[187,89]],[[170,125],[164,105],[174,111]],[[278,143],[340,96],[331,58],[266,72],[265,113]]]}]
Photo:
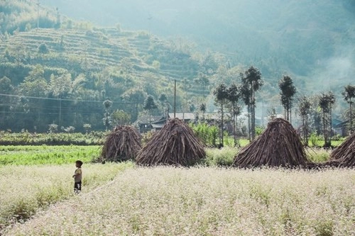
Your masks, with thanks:
[{"label": "stalk stack cut off by the photo's right edge", "polygon": [[333,150],[329,163],[338,167],[355,167],[355,133]]}]

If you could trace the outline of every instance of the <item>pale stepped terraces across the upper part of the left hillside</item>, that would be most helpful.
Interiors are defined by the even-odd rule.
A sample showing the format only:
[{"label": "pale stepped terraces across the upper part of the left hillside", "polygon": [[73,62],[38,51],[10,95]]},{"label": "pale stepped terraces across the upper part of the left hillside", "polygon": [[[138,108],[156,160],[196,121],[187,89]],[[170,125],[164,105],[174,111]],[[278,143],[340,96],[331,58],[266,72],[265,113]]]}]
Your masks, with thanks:
[{"label": "pale stepped terraces across the upper part of the left hillside", "polygon": [[[48,53],[39,53],[45,44]],[[0,53],[22,53],[23,64],[68,69],[77,74],[105,67],[132,67],[133,74],[153,72],[163,77],[194,78],[198,64],[190,55],[174,52],[163,40],[146,33],[108,30],[34,29],[11,35],[0,43]],[[21,57],[21,55],[20,55]],[[125,60],[124,60],[125,59]],[[153,61],[162,61],[160,68]],[[162,77],[162,79],[163,79]]]}]

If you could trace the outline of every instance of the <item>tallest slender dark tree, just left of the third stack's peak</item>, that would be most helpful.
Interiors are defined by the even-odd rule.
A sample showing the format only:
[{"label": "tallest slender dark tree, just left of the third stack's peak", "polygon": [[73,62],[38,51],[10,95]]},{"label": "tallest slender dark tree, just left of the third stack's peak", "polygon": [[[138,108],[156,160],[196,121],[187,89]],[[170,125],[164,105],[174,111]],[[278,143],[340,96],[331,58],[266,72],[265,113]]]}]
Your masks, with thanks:
[{"label": "tallest slender dark tree, just left of the third stack's peak", "polygon": [[[249,106],[249,120],[251,123],[251,140],[255,138],[255,107],[256,99],[255,93],[261,86],[263,86],[263,80],[261,79],[261,72],[255,67],[249,67],[249,69],[241,77],[241,93],[246,103]],[[249,131],[250,132],[250,131]]]}]

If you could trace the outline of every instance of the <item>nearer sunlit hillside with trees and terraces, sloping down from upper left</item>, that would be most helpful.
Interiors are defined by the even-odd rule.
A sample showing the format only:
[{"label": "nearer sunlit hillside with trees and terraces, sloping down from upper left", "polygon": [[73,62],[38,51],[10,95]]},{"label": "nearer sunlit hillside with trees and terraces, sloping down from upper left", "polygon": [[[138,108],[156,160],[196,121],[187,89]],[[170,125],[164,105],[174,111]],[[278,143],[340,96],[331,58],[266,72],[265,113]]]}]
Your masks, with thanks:
[{"label": "nearer sunlit hillside with trees and terraces, sloping down from upper left", "polygon": [[[190,86],[185,86],[187,93],[203,94],[193,79],[205,56],[192,55],[172,41],[143,31],[95,28],[69,18],[63,18],[60,26],[55,21],[46,25],[53,18],[47,9],[41,12],[47,11],[44,16],[48,18],[41,18],[36,28],[33,18],[27,17],[35,12],[31,2],[4,1],[0,7],[4,22],[8,22],[1,25],[0,35],[3,128],[43,131],[53,122],[59,128],[82,128],[84,123],[102,128],[102,102],[106,99],[114,101],[110,112],[123,109],[134,121],[147,94],[157,100],[166,94],[173,101],[174,79],[190,81]],[[10,27],[14,19],[15,30]],[[182,86],[178,92],[182,94]],[[177,103],[182,106],[180,98]]]}]

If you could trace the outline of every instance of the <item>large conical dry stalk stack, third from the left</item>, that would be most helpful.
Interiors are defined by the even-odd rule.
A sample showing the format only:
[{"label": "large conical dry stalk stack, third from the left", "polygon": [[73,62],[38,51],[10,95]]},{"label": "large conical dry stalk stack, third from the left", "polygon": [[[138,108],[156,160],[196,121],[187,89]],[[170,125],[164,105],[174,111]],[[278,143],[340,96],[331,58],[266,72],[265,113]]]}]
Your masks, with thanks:
[{"label": "large conical dry stalk stack, third from the left", "polygon": [[305,148],[293,126],[282,118],[268,123],[264,132],[241,149],[234,159],[236,167],[305,167]]}]

